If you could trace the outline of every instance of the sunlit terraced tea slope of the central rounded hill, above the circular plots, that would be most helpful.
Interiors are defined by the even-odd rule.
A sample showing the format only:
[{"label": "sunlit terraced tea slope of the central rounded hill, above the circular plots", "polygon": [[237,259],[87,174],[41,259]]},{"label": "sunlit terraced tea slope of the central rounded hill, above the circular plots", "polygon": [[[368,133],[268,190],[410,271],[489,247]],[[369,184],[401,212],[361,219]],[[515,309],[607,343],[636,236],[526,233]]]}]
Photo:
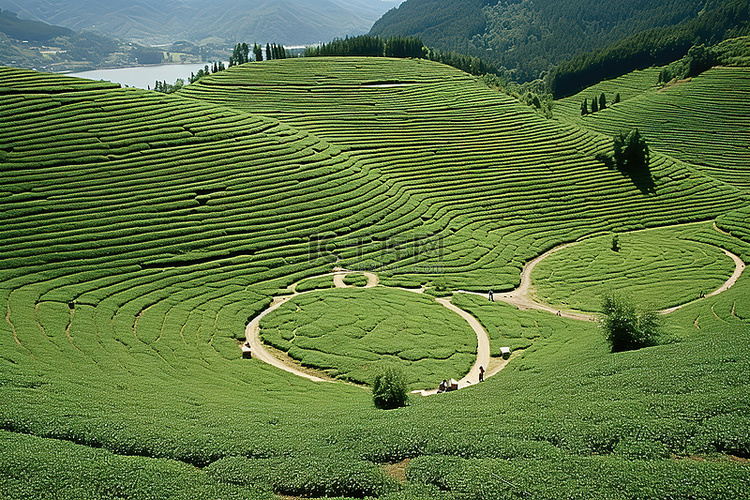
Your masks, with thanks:
[{"label": "sunlit terraced tea slope of the central rounded hill, above the circular plots", "polygon": [[[439,259],[342,254],[349,268],[375,266],[410,276],[412,285],[445,273],[455,287],[510,289],[524,261],[564,240],[710,218],[745,197],[658,155],[649,184],[636,190],[594,159],[609,147],[606,137],[540,120],[475,78],[428,61],[389,61],[414,71],[383,88],[367,86],[364,59],[304,61],[313,74],[336,75],[304,85],[296,61],[275,63],[232,68],[180,94],[281,118],[351,152],[410,200],[403,215],[381,225],[441,235]],[[694,202],[678,201],[685,195]]]}]

